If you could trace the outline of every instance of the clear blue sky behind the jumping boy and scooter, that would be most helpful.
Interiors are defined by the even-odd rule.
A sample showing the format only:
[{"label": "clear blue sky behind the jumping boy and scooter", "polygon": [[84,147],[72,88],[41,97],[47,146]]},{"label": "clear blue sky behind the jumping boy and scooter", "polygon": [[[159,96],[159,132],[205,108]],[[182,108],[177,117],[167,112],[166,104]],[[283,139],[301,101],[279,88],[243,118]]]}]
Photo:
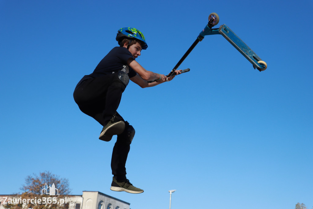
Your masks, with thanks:
[{"label": "clear blue sky behind the jumping boy and scooter", "polygon": [[[312,0],[0,0],[0,194],[27,175],[68,178],[132,209],[313,207]],[[145,35],[136,60],[167,74],[216,12],[261,59],[254,70],[221,35],[206,36],[153,88],[130,83],[119,113],[136,129],[127,177],[110,190],[115,138],[78,109],[73,90],[117,46],[122,27]]]}]

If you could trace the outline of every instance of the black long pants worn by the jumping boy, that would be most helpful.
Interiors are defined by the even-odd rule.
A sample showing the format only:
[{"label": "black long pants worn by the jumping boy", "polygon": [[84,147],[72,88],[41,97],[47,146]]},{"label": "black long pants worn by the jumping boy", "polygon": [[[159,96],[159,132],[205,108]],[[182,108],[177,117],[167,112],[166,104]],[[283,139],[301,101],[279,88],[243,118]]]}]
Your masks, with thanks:
[{"label": "black long pants worn by the jumping boy", "polygon": [[116,121],[125,122],[125,131],[117,135],[113,147],[111,169],[115,179],[126,179],[125,164],[131,144],[126,133],[129,123],[116,112],[126,86],[118,78],[117,73],[97,78],[88,78],[88,76],[84,78],[86,80],[76,86],[73,94],[80,110],[93,117],[102,126],[105,126],[115,113]]}]

